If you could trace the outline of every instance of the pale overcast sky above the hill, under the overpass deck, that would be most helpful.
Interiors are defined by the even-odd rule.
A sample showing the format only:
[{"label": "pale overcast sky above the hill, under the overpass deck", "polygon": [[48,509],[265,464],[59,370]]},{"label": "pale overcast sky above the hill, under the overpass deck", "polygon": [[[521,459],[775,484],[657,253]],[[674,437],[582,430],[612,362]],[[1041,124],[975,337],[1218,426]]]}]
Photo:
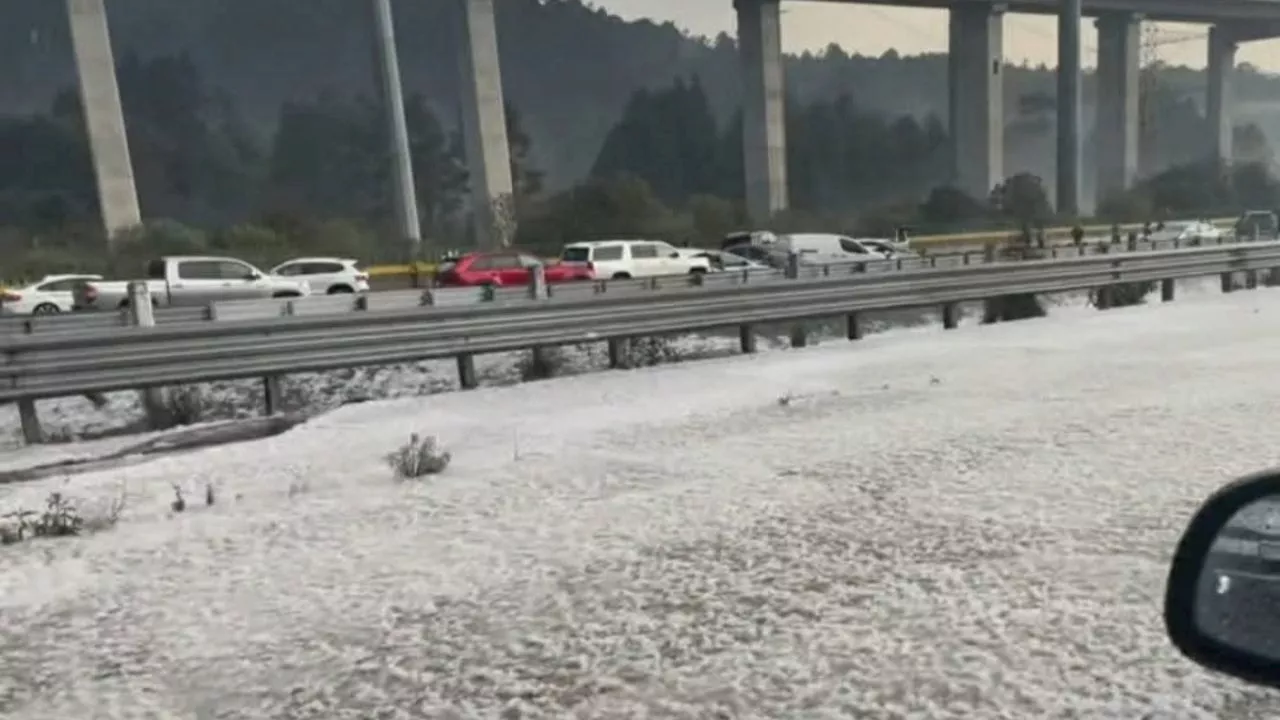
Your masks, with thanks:
[{"label": "pale overcast sky above the hill, under the overpass deck", "polygon": [[[671,20],[692,35],[716,36],[722,31],[736,35],[732,0],[593,1],[628,19]],[[782,45],[787,51],[820,50],[832,42],[844,46],[850,54],[861,55],[879,55],[890,47],[904,55],[946,51],[947,47],[945,10],[790,1],[782,5]],[[1157,31],[1160,45],[1156,51],[1160,60],[1204,65],[1207,27],[1161,24]],[[1012,63],[1055,64],[1056,38],[1057,27],[1052,17],[1005,17],[1005,58]],[[1093,65],[1097,36],[1092,22],[1085,20],[1082,38],[1084,64]],[[1280,72],[1280,40],[1244,44],[1236,56],[1240,61]]]}]

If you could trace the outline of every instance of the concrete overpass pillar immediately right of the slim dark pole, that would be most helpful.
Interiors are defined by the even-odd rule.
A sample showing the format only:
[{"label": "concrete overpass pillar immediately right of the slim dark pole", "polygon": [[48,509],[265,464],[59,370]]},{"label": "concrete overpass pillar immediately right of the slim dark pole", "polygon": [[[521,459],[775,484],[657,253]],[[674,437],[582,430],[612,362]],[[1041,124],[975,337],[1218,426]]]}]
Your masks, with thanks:
[{"label": "concrete overpass pillar immediately right of the slim dark pole", "polygon": [[1097,200],[1129,190],[1138,174],[1138,74],[1142,22],[1098,18]]}]

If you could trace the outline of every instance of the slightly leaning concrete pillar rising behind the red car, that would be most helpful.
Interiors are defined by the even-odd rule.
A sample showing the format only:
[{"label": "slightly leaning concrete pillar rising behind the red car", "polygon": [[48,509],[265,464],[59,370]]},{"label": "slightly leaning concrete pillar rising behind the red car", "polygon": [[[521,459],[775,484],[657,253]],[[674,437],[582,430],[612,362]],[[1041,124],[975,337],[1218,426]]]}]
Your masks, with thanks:
[{"label": "slightly leaning concrete pillar rising behind the red car", "polygon": [[504,247],[516,234],[516,208],[494,0],[461,1],[466,24],[460,63],[462,135],[471,178],[475,242],[481,249]]}]

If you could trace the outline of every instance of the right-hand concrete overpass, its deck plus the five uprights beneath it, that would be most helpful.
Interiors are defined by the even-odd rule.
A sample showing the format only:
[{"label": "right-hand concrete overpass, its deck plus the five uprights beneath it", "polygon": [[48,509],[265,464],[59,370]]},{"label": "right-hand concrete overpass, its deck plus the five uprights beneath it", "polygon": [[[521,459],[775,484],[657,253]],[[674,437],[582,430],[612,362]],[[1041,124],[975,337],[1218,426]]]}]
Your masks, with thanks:
[{"label": "right-hand concrete overpass, its deck plus the five uprights beneath it", "polygon": [[[845,1],[845,0],[832,0]],[[951,14],[948,128],[955,147],[952,183],[986,197],[1005,178],[1004,15],[1059,15],[1057,209],[1079,211],[1079,24],[1098,28],[1098,197],[1128,188],[1138,172],[1138,78],[1143,20],[1211,24],[1204,156],[1231,158],[1231,88],[1240,42],[1280,36],[1280,0],[854,0],[937,8]],[[746,78],[744,152],[746,202],[753,218],[787,206],[786,128],[780,0],[735,0]]]}]

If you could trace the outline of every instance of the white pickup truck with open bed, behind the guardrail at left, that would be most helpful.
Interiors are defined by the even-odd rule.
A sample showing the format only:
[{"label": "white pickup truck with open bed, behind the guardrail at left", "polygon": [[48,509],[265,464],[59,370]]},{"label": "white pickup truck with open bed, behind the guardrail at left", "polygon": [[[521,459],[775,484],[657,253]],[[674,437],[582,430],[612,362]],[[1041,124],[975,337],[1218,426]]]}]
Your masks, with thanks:
[{"label": "white pickup truck with open bed, behind the guardrail at left", "polygon": [[[269,275],[234,258],[180,255],[152,260],[146,283],[156,307],[311,295],[306,281]],[[77,310],[127,307],[129,281],[86,282],[76,288],[74,305]]]}]

